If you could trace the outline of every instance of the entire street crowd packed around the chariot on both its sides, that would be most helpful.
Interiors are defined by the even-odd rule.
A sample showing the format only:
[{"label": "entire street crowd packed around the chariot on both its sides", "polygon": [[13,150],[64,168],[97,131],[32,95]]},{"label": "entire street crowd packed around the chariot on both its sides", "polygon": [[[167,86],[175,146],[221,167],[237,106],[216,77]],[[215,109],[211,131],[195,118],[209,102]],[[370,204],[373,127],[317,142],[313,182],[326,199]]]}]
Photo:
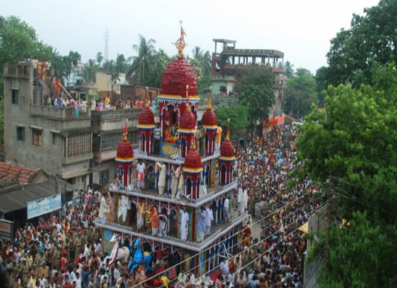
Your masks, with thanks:
[{"label": "entire street crowd packed around the chariot on both its sides", "polygon": [[[303,287],[306,240],[298,227],[315,209],[306,195],[316,188],[310,180],[286,185],[292,180],[291,169],[298,165],[295,133],[291,126],[278,127],[263,144],[237,149],[239,195],[246,193],[248,203],[241,208],[232,199],[231,209],[248,209],[257,217],[243,228],[237,253],[218,267],[219,277],[211,279],[207,274],[198,282],[182,265],[172,280],[167,267],[179,263],[181,255],[177,250],[156,248],[155,271],[166,271],[156,287],[169,287],[169,279],[175,287]],[[52,214],[38,224],[27,223],[16,230],[13,241],[2,241],[0,270],[9,287],[132,287],[147,279],[142,270],[135,278],[130,275],[128,263],[108,267],[100,231],[94,226],[100,199],[101,192],[86,188],[62,216]],[[260,234],[251,226],[256,221],[262,226]]]}]

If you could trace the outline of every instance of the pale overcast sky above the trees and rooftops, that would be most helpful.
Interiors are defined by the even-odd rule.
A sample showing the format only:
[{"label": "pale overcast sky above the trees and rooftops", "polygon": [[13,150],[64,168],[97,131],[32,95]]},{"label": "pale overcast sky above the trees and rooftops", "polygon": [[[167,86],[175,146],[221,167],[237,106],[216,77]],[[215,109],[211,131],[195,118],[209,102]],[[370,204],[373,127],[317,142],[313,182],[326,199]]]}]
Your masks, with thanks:
[{"label": "pale overcast sky above the trees and rooftops", "polygon": [[77,50],[83,62],[104,52],[108,28],[109,58],[135,55],[138,35],[155,47],[176,54],[179,20],[186,31],[186,50],[213,52],[213,38],[236,40],[238,48],[281,50],[284,61],[315,72],[326,64],[330,39],[349,28],[352,13],[379,0],[1,0],[2,16],[18,16],[39,38],[61,54]]}]

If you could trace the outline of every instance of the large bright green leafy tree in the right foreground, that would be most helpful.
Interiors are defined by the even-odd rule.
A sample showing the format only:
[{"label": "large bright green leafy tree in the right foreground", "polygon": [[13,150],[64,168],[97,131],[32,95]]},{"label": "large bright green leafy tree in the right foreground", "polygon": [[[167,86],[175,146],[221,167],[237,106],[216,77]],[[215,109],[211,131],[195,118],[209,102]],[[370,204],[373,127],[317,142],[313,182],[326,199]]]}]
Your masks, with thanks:
[{"label": "large bright green leafy tree in the right foreground", "polygon": [[[325,110],[305,118],[296,143],[303,173],[330,180],[329,246],[320,287],[395,287],[397,284],[397,73],[374,71],[374,86],[329,87]],[[330,205],[330,204],[329,204]],[[340,229],[340,221],[350,226]],[[325,236],[323,236],[325,238]]]}]

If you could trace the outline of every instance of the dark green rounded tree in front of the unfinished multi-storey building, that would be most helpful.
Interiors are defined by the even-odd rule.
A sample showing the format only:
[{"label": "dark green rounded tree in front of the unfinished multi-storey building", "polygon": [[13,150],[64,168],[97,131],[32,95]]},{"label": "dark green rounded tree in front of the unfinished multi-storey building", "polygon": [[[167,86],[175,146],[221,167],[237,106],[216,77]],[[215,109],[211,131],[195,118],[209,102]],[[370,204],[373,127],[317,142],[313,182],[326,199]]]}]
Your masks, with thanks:
[{"label": "dark green rounded tree in front of the unfinished multi-storey building", "polygon": [[274,75],[268,69],[253,69],[247,72],[236,91],[241,105],[248,109],[248,127],[253,133],[262,120],[269,117],[269,111],[274,103]]}]

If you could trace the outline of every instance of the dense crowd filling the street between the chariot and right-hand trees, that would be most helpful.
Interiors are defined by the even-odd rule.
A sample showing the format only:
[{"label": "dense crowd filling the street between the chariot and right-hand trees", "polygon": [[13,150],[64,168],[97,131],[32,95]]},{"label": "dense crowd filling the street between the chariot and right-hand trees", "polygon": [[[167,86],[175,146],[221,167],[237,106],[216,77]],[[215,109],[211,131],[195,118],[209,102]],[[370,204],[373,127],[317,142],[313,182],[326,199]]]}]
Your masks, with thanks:
[{"label": "dense crowd filling the street between the chariot and right-hand trees", "polygon": [[292,126],[282,125],[267,134],[262,145],[237,152],[240,183],[249,195],[247,209],[256,216],[253,221],[261,221],[262,229],[233,258],[235,272],[222,280],[228,283],[225,287],[303,287],[306,239],[298,228],[316,208],[308,193],[316,188],[310,180],[287,185],[298,165],[295,137]]}]

